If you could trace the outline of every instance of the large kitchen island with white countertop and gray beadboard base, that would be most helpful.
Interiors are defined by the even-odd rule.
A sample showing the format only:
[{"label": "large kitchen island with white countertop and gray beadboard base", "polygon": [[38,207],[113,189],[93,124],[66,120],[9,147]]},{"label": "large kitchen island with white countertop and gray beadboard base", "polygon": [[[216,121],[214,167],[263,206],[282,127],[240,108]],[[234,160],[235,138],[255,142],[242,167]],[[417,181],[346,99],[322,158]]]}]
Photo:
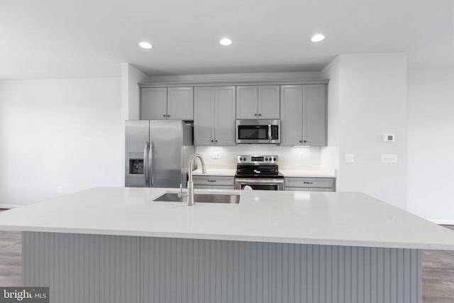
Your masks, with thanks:
[{"label": "large kitchen island with white countertop and gray beadboard base", "polygon": [[23,282],[51,302],[422,302],[421,249],[454,250],[453,231],[365,194],[153,202],[165,192],[89,189],[0,228],[23,231]]}]

